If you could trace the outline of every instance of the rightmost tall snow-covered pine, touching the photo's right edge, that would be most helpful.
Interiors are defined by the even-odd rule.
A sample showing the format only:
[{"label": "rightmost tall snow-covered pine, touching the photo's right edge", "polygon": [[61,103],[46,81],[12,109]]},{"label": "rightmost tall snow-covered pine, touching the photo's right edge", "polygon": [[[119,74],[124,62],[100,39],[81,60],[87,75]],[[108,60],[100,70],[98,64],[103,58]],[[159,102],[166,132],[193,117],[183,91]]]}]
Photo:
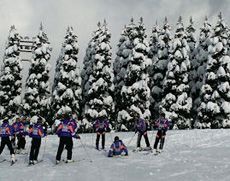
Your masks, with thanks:
[{"label": "rightmost tall snow-covered pine, touching the photo's right edge", "polygon": [[228,28],[218,15],[218,22],[208,47],[208,63],[201,88],[198,109],[201,128],[230,127],[230,57],[227,54]]}]

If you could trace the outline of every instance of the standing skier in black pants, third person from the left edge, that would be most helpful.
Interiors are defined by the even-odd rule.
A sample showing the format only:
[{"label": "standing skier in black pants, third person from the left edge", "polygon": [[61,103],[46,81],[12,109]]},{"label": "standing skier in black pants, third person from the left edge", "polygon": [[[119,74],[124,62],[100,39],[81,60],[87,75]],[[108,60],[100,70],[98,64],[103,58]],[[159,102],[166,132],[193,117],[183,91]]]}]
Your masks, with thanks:
[{"label": "standing skier in black pants, third person from the left edge", "polygon": [[36,164],[38,162],[38,154],[41,146],[41,138],[46,136],[46,132],[43,129],[42,124],[43,124],[42,118],[38,117],[37,123],[34,123],[29,127],[29,136],[32,138],[29,165]]}]

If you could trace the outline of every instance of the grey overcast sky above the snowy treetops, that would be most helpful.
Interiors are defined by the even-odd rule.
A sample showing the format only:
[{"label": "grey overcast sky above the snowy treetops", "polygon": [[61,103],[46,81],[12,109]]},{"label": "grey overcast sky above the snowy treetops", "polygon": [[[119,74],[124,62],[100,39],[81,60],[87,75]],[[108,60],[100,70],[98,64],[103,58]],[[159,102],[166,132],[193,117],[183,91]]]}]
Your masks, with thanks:
[{"label": "grey overcast sky above the snowy treetops", "polygon": [[[162,25],[165,16],[173,28],[179,15],[182,15],[185,25],[193,16],[195,27],[199,28],[205,15],[210,22],[216,23],[217,14],[222,11],[229,24],[229,9],[230,0],[0,0],[0,64],[13,24],[21,36],[36,36],[40,22],[43,22],[53,48],[50,63],[54,70],[68,25],[73,26],[78,36],[79,63],[82,64],[92,32],[97,22],[103,19],[108,22],[112,33],[111,45],[116,52],[122,28],[131,17],[137,22],[142,16],[149,35],[156,20]],[[27,74],[25,70],[24,74]]]}]

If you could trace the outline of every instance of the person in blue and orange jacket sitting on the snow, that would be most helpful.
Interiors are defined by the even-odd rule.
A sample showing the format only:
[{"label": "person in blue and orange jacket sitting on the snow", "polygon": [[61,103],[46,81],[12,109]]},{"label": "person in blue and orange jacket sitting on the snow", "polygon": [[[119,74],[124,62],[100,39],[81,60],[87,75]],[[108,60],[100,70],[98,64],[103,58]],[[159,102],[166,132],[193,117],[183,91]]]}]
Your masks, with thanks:
[{"label": "person in blue and orange jacket sitting on the snow", "polygon": [[118,136],[115,136],[113,144],[110,146],[108,157],[125,155],[128,156],[128,149],[124,143],[119,139]]}]

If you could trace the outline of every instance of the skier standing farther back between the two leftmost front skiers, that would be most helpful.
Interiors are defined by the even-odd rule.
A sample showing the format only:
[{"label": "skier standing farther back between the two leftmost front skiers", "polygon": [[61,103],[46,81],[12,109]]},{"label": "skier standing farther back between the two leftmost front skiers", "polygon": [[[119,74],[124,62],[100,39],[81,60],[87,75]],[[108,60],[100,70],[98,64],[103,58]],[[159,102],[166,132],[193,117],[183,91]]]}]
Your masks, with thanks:
[{"label": "skier standing farther back between the two leftmost front skiers", "polygon": [[15,142],[15,138],[17,138],[17,151],[16,153],[21,153],[25,150],[26,145],[26,127],[25,122],[19,117],[16,116],[16,121],[12,124],[13,127],[13,135],[14,138],[12,139]]}]

